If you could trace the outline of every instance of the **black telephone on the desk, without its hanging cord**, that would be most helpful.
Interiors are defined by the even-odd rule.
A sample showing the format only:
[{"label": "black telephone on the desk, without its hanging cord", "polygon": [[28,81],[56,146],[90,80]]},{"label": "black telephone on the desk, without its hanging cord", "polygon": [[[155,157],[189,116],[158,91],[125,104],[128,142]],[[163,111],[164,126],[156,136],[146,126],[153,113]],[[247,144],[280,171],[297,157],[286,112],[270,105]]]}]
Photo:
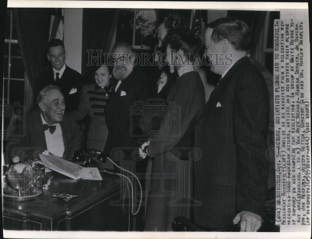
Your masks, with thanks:
[{"label": "black telephone on the desk, without its hanging cord", "polygon": [[106,154],[91,148],[80,149],[74,152],[73,161],[82,161],[81,166],[83,167],[97,166],[103,169],[105,168]]}]

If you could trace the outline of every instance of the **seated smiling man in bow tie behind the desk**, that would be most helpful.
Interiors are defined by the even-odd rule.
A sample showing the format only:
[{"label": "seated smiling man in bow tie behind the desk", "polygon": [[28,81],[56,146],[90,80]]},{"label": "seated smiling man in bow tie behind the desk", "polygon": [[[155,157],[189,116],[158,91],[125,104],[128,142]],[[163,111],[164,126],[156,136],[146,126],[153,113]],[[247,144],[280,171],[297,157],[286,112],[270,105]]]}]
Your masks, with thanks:
[{"label": "seated smiling man in bow tie behind the desk", "polygon": [[25,136],[18,144],[10,145],[11,156],[15,148],[21,148],[28,157],[35,148],[67,159],[81,147],[81,131],[72,118],[64,115],[65,100],[60,88],[47,85],[38,94],[35,109],[25,115],[25,125],[17,125],[17,131],[25,127]]}]

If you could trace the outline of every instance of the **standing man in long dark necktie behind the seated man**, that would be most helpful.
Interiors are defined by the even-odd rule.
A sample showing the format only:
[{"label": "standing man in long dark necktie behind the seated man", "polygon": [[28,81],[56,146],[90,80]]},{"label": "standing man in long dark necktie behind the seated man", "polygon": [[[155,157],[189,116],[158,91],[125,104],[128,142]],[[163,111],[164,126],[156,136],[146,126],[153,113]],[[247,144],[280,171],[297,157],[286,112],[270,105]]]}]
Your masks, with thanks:
[{"label": "standing man in long dark necktie behind the seated man", "polygon": [[36,83],[36,94],[46,85],[60,87],[65,97],[66,112],[78,108],[80,91],[83,84],[83,77],[74,69],[65,64],[66,51],[64,42],[60,39],[52,39],[47,46],[47,58],[51,67],[41,72],[40,79]]}]

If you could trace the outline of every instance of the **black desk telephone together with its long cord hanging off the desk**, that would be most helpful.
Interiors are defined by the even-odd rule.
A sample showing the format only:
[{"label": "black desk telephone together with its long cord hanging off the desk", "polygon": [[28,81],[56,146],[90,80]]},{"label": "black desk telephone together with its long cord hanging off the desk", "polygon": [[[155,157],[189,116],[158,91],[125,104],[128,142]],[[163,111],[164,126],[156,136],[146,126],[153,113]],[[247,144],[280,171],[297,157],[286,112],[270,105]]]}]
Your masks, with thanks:
[{"label": "black desk telephone together with its long cord hanging off the desk", "polygon": [[[96,156],[96,158],[95,158]],[[108,158],[117,168],[119,168],[121,170],[121,172],[127,172],[128,175],[132,175],[134,177],[134,179],[138,182],[139,184],[139,188],[140,188],[140,203],[139,203],[139,207],[137,209],[137,211],[134,213],[134,187],[133,187],[133,184],[131,182],[131,179],[129,177],[127,177],[126,175],[122,174],[122,173],[117,173],[117,172],[110,172],[108,171],[107,169],[105,169],[105,162],[106,162],[106,158]],[[82,165],[83,167],[90,167],[90,166],[97,166],[97,167],[100,167],[100,169],[103,171],[103,172],[106,172],[106,173],[109,173],[109,174],[115,174],[115,175],[118,175],[119,177],[123,178],[124,180],[128,181],[129,184],[130,184],[130,193],[131,193],[131,199],[132,199],[132,203],[131,203],[131,206],[132,206],[132,214],[133,215],[136,215],[139,210],[140,210],[140,207],[141,207],[141,204],[142,204],[142,195],[143,195],[143,192],[142,192],[142,186],[141,186],[141,183],[138,179],[138,177],[122,168],[122,167],[119,167],[113,160],[110,159],[110,157],[108,157],[105,153],[99,151],[99,150],[96,150],[96,149],[80,149],[80,150],[76,150],[74,152],[74,155],[73,155],[73,161],[83,161]],[[94,165],[95,164],[95,165]]]}]

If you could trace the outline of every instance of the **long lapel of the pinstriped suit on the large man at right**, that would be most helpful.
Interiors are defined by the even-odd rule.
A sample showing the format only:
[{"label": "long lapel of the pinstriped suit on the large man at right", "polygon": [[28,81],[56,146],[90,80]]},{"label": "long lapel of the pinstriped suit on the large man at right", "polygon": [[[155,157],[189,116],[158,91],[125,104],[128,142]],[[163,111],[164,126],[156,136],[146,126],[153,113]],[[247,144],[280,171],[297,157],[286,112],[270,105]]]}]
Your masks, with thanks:
[{"label": "long lapel of the pinstriped suit on the large man at right", "polygon": [[248,57],[242,57],[240,60],[238,60],[232,68],[225,74],[225,76],[220,80],[219,85],[211,92],[208,102],[206,103],[205,107],[202,110],[202,113],[200,117],[198,117],[198,120],[203,118],[213,107],[216,106],[218,97],[220,96],[221,92],[229,82],[232,75],[237,71],[238,68],[241,67],[241,65],[245,64],[246,60],[248,60]]}]

